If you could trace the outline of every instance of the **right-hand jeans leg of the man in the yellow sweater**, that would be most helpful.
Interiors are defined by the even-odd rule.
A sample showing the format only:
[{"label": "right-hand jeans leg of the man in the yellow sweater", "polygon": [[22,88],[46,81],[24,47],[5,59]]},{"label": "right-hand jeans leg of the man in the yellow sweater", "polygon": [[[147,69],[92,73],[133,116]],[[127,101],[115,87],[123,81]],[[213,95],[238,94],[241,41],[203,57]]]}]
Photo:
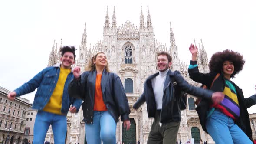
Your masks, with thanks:
[{"label": "right-hand jeans leg of the man in the yellow sweater", "polygon": [[66,115],[53,114],[52,122],[54,144],[65,144],[67,132],[67,118]]}]

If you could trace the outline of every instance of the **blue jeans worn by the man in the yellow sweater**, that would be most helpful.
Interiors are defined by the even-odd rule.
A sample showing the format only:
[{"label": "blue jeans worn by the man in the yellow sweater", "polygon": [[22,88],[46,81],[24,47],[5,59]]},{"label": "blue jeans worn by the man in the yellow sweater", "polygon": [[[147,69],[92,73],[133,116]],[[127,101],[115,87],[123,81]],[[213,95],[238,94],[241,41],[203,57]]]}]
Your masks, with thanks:
[{"label": "blue jeans worn by the man in the yellow sweater", "polygon": [[65,144],[67,132],[66,115],[57,115],[46,111],[38,111],[34,125],[33,144],[44,144],[46,133],[52,125],[54,144]]}]

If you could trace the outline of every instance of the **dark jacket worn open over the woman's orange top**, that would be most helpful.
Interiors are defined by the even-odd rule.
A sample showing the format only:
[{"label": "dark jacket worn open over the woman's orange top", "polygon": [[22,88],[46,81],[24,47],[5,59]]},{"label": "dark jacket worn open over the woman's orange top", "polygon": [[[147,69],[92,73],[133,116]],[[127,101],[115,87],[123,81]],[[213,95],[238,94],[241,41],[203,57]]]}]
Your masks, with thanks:
[{"label": "dark jacket worn open over the woman's orange top", "polygon": [[[84,112],[85,123],[93,123],[93,108],[95,95],[96,71],[83,72],[80,79],[73,79],[69,84],[69,95],[75,98],[82,98],[82,109]],[[108,112],[118,121],[121,115],[121,120],[128,120],[130,108],[125,89],[118,75],[111,72],[102,72],[101,89],[103,101],[108,109]]]}]

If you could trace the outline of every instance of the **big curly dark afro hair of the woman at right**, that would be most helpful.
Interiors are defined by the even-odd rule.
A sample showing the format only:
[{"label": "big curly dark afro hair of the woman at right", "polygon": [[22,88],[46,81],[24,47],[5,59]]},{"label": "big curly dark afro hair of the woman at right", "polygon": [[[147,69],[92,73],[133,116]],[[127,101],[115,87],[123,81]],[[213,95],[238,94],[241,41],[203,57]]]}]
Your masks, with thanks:
[{"label": "big curly dark afro hair of the woman at right", "polygon": [[209,62],[210,71],[221,73],[223,62],[226,60],[233,62],[234,72],[230,77],[234,78],[234,76],[243,69],[245,61],[243,60],[243,56],[240,53],[234,52],[230,49],[226,49],[223,52],[216,52],[213,54]]}]

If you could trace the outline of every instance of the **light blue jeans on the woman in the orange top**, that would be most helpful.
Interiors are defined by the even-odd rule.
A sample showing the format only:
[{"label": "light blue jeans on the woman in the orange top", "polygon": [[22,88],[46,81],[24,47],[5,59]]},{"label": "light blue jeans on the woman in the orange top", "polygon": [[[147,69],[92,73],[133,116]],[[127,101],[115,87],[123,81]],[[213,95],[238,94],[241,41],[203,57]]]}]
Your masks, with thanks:
[{"label": "light blue jeans on the woman in the orange top", "polygon": [[108,111],[94,111],[93,123],[85,124],[88,144],[116,144],[116,123]]}]

